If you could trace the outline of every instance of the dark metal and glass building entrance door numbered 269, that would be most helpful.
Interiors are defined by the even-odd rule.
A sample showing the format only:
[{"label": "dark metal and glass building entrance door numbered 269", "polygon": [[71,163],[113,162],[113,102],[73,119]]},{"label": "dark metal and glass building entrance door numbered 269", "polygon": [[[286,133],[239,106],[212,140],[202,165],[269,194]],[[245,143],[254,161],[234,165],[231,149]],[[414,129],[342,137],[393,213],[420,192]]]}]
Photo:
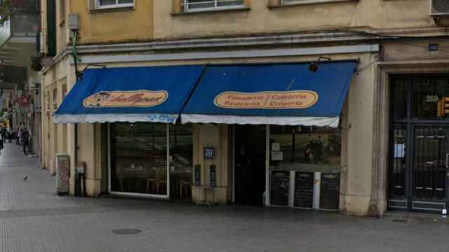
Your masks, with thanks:
[{"label": "dark metal and glass building entrance door numbered 269", "polygon": [[441,213],[449,192],[449,78],[391,78],[389,208]]}]

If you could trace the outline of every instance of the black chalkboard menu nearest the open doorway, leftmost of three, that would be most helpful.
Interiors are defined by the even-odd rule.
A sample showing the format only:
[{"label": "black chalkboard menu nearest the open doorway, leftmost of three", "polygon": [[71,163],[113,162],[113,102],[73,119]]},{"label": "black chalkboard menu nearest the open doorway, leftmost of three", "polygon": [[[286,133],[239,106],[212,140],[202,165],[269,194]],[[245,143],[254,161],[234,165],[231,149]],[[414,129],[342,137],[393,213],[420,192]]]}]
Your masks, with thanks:
[{"label": "black chalkboard menu nearest the open doorway, leftmost of three", "polygon": [[288,206],[288,188],[290,186],[290,172],[272,171],[270,204],[274,206]]}]

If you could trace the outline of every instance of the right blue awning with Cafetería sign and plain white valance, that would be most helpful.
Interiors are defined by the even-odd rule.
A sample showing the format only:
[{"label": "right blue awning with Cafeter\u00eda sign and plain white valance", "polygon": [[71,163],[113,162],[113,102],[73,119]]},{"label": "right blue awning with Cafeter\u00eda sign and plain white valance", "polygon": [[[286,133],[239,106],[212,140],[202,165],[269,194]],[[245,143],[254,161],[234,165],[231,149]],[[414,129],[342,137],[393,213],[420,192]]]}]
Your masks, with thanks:
[{"label": "right blue awning with Cafeter\u00eda sign and plain white valance", "polygon": [[208,66],[182,123],[337,127],[356,61]]}]

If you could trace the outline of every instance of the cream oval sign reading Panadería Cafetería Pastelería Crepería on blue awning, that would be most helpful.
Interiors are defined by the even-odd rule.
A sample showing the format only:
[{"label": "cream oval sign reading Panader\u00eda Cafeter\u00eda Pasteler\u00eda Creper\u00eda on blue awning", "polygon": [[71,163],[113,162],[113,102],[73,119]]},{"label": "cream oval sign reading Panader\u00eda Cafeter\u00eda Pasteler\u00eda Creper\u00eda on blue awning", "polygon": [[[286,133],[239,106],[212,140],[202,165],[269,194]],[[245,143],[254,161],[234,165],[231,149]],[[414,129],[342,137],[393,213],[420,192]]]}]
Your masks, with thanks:
[{"label": "cream oval sign reading Panader\u00eda Cafeter\u00eda Pasteler\u00eda Creper\u00eda on blue awning", "polygon": [[318,102],[314,91],[222,92],[214,99],[224,109],[307,109]]}]

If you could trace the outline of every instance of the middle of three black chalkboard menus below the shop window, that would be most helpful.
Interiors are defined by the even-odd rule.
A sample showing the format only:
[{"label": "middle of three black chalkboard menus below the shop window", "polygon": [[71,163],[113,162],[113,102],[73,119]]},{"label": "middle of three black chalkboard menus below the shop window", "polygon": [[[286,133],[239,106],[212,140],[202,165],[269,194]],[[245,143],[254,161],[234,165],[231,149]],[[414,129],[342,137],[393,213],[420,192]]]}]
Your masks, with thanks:
[{"label": "middle of three black chalkboard menus below the shop window", "polygon": [[314,173],[296,172],[294,207],[311,209],[314,204]]}]

